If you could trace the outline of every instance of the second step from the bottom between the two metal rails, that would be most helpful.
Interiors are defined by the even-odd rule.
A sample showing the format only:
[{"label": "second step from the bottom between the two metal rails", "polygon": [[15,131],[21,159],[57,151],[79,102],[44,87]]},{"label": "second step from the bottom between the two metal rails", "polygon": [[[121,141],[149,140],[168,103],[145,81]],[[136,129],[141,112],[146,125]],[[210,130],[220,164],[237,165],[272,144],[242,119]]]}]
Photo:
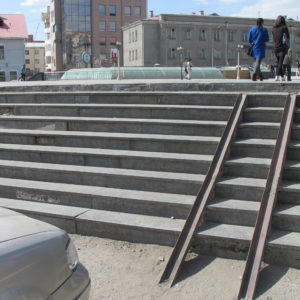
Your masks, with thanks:
[{"label": "second step from the bottom between the two metal rails", "polygon": [[254,226],[260,202],[216,198],[207,206],[209,222]]}]

